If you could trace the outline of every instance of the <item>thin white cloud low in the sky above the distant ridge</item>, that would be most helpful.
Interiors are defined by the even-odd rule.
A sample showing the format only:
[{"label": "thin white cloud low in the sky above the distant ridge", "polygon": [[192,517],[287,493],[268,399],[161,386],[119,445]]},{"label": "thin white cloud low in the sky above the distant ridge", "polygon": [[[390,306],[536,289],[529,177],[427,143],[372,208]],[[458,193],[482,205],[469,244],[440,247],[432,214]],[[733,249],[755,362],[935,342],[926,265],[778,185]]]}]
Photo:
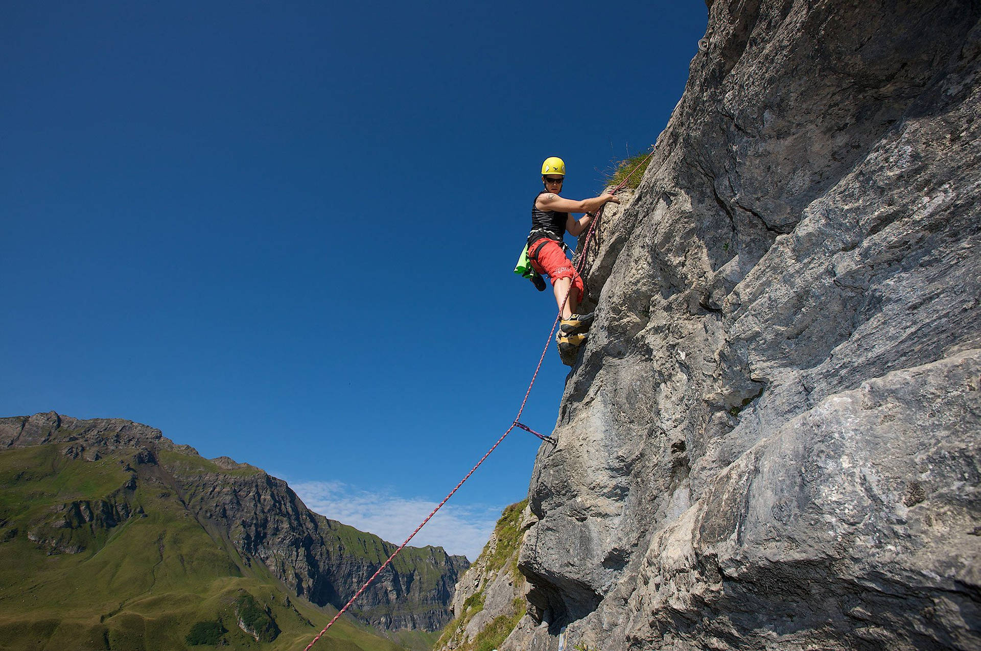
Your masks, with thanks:
[{"label": "thin white cloud low in the sky above the distant ridge", "polygon": [[[401,544],[439,502],[359,490],[341,481],[290,483],[311,510],[388,542]],[[409,545],[439,545],[450,554],[463,554],[471,562],[484,549],[503,506],[445,504]]]}]

